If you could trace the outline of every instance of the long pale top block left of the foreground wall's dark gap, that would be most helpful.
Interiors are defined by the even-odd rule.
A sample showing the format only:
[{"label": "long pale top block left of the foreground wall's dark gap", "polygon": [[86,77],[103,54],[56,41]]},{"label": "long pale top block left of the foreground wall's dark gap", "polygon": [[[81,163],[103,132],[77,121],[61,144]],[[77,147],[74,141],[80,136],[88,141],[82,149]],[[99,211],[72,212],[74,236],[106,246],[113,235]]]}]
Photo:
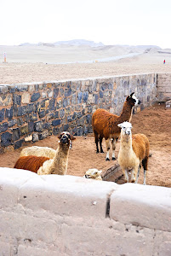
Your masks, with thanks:
[{"label": "long pale top block left of the foreground wall's dark gap", "polygon": [[40,218],[42,207],[60,216],[105,218],[107,197],[117,186],[83,177],[44,175],[39,182],[31,179],[22,186],[19,203]]}]

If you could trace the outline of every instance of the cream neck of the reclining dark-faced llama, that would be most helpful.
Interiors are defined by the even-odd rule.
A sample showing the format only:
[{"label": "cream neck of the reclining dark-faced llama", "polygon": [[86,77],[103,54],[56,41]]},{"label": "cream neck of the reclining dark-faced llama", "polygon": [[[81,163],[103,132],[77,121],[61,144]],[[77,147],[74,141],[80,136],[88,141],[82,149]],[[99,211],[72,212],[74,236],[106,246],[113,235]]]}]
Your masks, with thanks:
[{"label": "cream neck of the reclining dark-faced llama", "polygon": [[68,166],[69,145],[59,143],[54,156],[54,174],[65,175]]}]

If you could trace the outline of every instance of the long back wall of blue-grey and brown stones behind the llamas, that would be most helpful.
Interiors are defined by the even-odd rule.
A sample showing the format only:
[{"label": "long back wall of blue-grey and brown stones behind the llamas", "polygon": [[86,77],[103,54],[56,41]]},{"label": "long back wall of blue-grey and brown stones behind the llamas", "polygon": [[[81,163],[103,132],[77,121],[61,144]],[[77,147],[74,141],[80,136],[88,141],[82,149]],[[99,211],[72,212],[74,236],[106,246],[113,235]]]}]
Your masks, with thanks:
[{"label": "long back wall of blue-grey and brown stones behind the llamas", "polygon": [[105,108],[120,114],[126,96],[135,92],[141,105],[157,101],[157,75],[140,74],[38,84],[0,84],[0,152],[20,148],[61,131],[76,136],[92,132],[92,113]]}]

